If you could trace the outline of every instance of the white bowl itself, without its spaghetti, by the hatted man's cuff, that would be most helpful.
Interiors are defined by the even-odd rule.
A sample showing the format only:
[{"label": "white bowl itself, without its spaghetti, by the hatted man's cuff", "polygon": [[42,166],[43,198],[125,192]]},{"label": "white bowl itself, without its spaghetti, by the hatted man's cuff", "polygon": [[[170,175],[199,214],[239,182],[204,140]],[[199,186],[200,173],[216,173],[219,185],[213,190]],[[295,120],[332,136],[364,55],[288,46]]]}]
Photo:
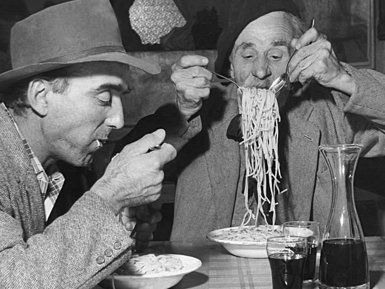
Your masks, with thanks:
[{"label": "white bowl itself, without its spaghetti, by the hatted man's cuff", "polygon": [[[177,254],[162,254],[177,257],[182,262],[180,270],[150,273],[143,275],[110,275],[101,285],[106,289],[167,289],[175,285],[181,278],[202,266],[201,260]],[[114,288],[115,287],[115,288]]]}]

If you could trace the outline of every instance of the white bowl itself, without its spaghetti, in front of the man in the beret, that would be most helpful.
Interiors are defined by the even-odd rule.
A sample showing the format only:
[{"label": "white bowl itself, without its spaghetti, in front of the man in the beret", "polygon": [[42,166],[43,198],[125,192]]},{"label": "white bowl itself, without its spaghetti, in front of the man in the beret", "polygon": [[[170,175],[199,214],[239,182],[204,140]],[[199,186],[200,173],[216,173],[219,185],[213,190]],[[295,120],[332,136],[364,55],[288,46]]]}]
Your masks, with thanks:
[{"label": "white bowl itself, without its spaghetti, in front of the man in the beret", "polygon": [[[244,226],[244,228],[253,228],[254,226]],[[282,226],[274,226],[275,229],[279,229]],[[243,240],[226,240],[221,237],[222,233],[240,227],[224,228],[211,231],[207,234],[207,237],[215,242],[221,243],[222,246],[229,251],[229,253],[245,258],[267,258],[266,252],[266,239],[262,241],[243,241]],[[280,232],[277,232],[279,235]]]}]

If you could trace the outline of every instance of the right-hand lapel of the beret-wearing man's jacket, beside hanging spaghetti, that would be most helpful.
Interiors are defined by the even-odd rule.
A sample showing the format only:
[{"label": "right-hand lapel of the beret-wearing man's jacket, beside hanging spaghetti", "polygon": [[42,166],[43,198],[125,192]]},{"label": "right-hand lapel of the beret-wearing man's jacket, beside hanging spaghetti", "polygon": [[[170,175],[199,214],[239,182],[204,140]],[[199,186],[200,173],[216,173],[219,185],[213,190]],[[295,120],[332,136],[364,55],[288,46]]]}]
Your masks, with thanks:
[{"label": "right-hand lapel of the beret-wearing man's jacket, beside hanging spaghetti", "polygon": [[310,102],[303,103],[289,110],[281,120],[279,160],[284,172],[281,190],[287,189],[279,196],[279,203],[285,208],[279,210],[283,220],[309,220],[312,214],[320,130],[309,120],[313,106]]}]

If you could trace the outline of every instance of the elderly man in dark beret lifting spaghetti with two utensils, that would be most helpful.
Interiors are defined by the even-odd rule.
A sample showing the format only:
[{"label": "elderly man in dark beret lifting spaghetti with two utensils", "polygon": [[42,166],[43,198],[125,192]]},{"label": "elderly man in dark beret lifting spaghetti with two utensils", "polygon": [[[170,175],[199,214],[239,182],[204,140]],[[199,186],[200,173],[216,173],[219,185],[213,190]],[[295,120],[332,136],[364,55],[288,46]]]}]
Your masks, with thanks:
[{"label": "elderly man in dark beret lifting spaghetti with two utensils", "polygon": [[[291,1],[234,1],[229,13],[216,71],[238,85],[269,88],[298,50],[289,63],[293,89],[276,95],[279,186],[287,189],[276,196],[277,222],[317,220],[324,229],[332,189],[318,146],[361,143],[362,156],[385,155],[385,76],[339,62],[323,35],[306,31]],[[207,64],[205,57],[183,56],[171,75],[178,114],[162,107],[122,140],[138,138],[143,128],[165,127],[167,141],[179,150],[172,240],[204,239],[211,230],[238,226],[245,212],[244,150],[234,133],[241,95],[234,84],[225,92],[212,89],[218,85]],[[175,118],[164,122],[165,113]]]}]

